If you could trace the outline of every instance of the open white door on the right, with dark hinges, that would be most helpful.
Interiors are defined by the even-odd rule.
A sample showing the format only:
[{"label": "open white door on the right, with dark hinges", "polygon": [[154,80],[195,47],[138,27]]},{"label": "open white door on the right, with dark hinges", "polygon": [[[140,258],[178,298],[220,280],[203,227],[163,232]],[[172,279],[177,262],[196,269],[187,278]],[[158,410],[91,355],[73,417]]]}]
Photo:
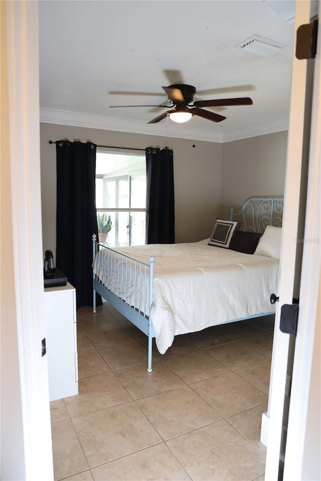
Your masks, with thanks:
[{"label": "open white door on the right, with dark hinges", "polygon": [[[284,459],[286,425],[289,415],[289,385],[292,376],[294,336],[280,331],[280,311],[284,304],[292,304],[292,298],[300,293],[302,250],[304,245],[304,217],[306,210],[306,185],[310,138],[311,98],[314,60],[298,60],[295,57],[296,31],[300,25],[310,22],[310,2],[298,0],[295,10],[294,48],[291,81],[290,122],[288,132],[287,168],[285,179],[285,205],[282,229],[280,278],[276,306],[273,356],[268,412],[263,415],[263,427],[267,432],[267,456],[265,480],[278,479],[279,459]],[[317,101],[314,99],[314,101]],[[306,212],[307,216],[310,212]],[[304,271],[303,266],[303,271]],[[300,310],[304,301],[300,299]],[[295,373],[294,373],[295,374]],[[293,379],[293,385],[296,381]],[[292,392],[293,395],[293,392]],[[292,422],[289,419],[289,428]],[[289,436],[288,436],[289,438]],[[303,448],[302,448],[303,449]],[[284,473],[292,461],[287,455]],[[293,474],[293,473],[292,473]],[[286,474],[287,475],[287,474]],[[287,479],[301,479],[295,473]],[[285,477],[284,477],[285,480]]]}]

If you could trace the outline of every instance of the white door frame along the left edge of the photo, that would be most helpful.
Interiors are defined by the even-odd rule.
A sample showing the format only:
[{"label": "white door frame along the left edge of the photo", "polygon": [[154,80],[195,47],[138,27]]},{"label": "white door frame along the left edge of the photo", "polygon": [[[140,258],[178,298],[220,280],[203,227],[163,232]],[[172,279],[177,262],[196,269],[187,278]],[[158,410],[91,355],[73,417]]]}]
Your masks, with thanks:
[{"label": "white door frame along the left edge of the photo", "polygon": [[[43,319],[38,2],[9,0],[1,4],[1,26],[7,32],[7,37],[2,32],[2,54],[5,55],[1,58],[1,74],[7,87],[4,106],[8,106],[6,118],[2,116],[7,124],[5,142],[8,148],[1,162],[9,179],[6,186],[8,202],[2,204],[1,211],[10,229],[2,235],[8,235],[12,240],[6,254],[6,280],[14,287],[14,292],[11,289],[10,293],[14,314],[2,318],[1,322],[2,327],[5,322],[12,327],[15,352],[7,351],[6,361],[7,367],[11,358],[17,361],[17,369],[12,370],[12,381],[20,386],[16,392],[20,396],[19,402],[16,399],[11,405],[7,402],[8,411],[2,410],[5,419],[1,425],[1,477],[22,479],[23,475],[27,481],[52,481],[47,356],[42,356],[42,340],[46,332]],[[6,287],[2,285],[2,294]],[[2,299],[3,303],[9,304],[8,299]],[[7,381],[8,372],[5,375]],[[7,387],[8,383],[5,385]],[[10,401],[12,394],[9,389],[2,390],[2,400]],[[22,422],[12,431],[8,417],[14,419],[16,416]],[[21,440],[24,449],[15,450],[15,444],[20,444]],[[21,473],[19,477],[18,472]]]}]

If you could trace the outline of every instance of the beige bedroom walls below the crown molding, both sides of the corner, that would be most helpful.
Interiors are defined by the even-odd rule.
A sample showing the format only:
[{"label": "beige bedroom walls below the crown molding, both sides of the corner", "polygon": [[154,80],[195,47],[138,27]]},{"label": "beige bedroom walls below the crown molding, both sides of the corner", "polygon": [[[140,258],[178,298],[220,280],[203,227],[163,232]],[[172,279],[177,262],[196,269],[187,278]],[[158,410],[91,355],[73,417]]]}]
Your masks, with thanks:
[{"label": "beige bedroom walls below the crown molding, both sides of the corner", "polygon": [[[287,132],[225,144],[42,123],[41,183],[43,248],[56,251],[56,147],[49,140],[91,141],[174,151],[176,242],[210,235],[217,216],[229,218],[253,195],[283,195]],[[196,147],[193,148],[193,143]]]}]

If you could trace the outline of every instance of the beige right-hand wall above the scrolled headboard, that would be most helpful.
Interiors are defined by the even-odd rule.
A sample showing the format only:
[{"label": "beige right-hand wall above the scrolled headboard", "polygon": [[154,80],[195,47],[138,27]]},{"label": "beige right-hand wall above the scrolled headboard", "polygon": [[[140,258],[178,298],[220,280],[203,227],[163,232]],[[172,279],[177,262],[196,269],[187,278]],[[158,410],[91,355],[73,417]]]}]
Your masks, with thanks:
[{"label": "beige right-hand wall above the scrolled headboard", "polygon": [[220,215],[253,195],[283,195],[286,149],[287,131],[223,144]]}]

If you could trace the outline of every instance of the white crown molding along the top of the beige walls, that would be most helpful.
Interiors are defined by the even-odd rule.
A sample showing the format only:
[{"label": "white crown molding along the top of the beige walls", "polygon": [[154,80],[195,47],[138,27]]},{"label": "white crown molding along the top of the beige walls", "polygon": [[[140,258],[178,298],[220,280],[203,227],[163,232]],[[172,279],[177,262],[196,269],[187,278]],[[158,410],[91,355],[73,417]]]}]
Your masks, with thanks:
[{"label": "white crown molding along the top of the beige walls", "polygon": [[288,118],[273,122],[264,122],[229,132],[213,132],[206,129],[194,129],[183,125],[149,124],[139,120],[107,117],[104,115],[71,112],[67,110],[40,108],[40,122],[59,125],[72,125],[91,129],[115,130],[144,135],[157,135],[180,139],[193,139],[206,142],[231,142],[258,135],[265,135],[288,129]]}]

